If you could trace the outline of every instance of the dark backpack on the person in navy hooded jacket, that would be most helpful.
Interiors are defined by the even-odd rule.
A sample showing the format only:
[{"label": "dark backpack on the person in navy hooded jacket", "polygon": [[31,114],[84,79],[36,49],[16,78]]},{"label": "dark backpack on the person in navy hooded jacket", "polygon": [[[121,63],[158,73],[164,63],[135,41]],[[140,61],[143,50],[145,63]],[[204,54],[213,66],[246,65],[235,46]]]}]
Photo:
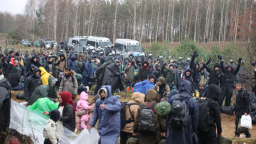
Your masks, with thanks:
[{"label": "dark backpack on the person in navy hooded jacket", "polygon": [[184,127],[189,122],[188,106],[185,99],[181,98],[180,94],[175,95],[176,99],[171,104],[171,115],[169,124],[175,127]]}]

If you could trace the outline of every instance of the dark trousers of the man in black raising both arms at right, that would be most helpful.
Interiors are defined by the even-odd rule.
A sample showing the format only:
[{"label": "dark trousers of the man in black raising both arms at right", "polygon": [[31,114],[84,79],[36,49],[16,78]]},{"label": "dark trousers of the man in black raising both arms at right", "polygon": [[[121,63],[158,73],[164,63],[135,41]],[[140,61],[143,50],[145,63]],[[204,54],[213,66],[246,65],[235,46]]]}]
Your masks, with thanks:
[{"label": "dark trousers of the man in black raising both arms at right", "polygon": [[233,94],[233,86],[223,86],[223,88],[221,88],[221,94],[219,96],[219,106],[223,106],[223,101],[224,98],[225,99],[225,106],[230,106],[230,102],[231,102],[231,98],[232,98],[232,94]]}]

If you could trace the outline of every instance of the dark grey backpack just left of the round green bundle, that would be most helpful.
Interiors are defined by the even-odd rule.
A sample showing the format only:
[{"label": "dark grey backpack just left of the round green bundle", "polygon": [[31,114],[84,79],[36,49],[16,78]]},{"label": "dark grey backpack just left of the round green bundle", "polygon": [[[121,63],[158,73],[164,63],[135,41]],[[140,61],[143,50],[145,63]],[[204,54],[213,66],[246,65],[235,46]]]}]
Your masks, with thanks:
[{"label": "dark grey backpack just left of the round green bundle", "polygon": [[146,103],[148,103],[148,107],[144,106],[143,104],[140,105],[142,110],[140,111],[138,131],[140,133],[156,134],[156,125],[153,112],[156,103],[153,103],[152,105],[150,105],[148,101],[146,101]]}]

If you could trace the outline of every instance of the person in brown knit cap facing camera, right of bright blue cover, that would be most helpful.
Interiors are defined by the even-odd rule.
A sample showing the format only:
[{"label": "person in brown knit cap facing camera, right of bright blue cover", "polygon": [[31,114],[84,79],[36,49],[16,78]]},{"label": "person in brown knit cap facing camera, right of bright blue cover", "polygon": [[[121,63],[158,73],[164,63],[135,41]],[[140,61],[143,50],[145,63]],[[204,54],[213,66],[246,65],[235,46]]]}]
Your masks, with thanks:
[{"label": "person in brown knit cap facing camera, right of bright blue cover", "polygon": [[156,90],[156,92],[158,92],[158,94],[160,95],[161,101],[167,101],[168,95],[170,92],[170,88],[169,88],[168,84],[165,83],[164,77],[160,77],[158,79],[158,83],[156,83],[152,89],[154,89],[154,90]]}]

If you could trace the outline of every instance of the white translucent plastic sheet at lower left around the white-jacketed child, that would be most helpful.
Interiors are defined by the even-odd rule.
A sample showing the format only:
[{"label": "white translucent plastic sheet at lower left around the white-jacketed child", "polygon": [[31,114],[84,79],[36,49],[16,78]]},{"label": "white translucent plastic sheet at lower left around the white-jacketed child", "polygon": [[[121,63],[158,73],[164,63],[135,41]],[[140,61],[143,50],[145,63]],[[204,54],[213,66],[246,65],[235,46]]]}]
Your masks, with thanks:
[{"label": "white translucent plastic sheet at lower left around the white-jacketed child", "polygon": [[[10,128],[17,130],[20,134],[29,136],[33,143],[41,144],[45,140],[43,137],[43,128],[47,121],[48,118],[43,114],[28,109],[16,101],[11,101]],[[77,134],[63,126],[58,126],[58,135],[58,142],[60,144],[96,144],[100,137],[95,128],[91,132],[85,129],[77,136]]]}]

